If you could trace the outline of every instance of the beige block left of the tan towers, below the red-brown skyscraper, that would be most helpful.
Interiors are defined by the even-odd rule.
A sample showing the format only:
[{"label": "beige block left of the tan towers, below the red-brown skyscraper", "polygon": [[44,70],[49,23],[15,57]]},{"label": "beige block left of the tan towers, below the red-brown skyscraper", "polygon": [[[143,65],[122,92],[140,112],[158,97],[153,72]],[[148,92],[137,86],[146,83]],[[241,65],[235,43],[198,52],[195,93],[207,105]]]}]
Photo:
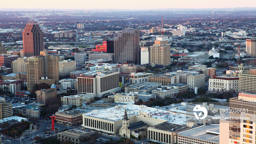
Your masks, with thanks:
[{"label": "beige block left of the tan towers, below the red-brown skyscraper", "polygon": [[20,57],[15,61],[12,61],[12,72],[20,73],[27,72],[27,57]]}]

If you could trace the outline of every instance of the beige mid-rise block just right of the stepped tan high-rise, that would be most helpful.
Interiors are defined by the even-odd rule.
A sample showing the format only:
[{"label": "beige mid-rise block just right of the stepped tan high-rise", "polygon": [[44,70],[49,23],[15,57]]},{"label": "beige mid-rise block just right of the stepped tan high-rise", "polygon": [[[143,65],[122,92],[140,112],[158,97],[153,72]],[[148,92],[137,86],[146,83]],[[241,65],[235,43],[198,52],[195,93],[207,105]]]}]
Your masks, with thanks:
[{"label": "beige mid-rise block just right of the stepped tan high-rise", "polygon": [[76,70],[76,62],[64,60],[59,62],[60,79],[69,78],[69,73]]}]

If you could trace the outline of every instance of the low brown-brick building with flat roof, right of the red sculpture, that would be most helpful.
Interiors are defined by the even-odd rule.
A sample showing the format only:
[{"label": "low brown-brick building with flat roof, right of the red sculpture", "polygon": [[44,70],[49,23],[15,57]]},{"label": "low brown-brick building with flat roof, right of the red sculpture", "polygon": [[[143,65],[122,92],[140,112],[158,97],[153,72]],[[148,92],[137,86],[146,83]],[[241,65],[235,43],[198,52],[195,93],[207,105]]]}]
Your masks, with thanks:
[{"label": "low brown-brick building with flat roof, right of the red sculpture", "polygon": [[83,121],[82,114],[79,111],[60,111],[55,113],[56,122],[63,125],[77,125]]}]

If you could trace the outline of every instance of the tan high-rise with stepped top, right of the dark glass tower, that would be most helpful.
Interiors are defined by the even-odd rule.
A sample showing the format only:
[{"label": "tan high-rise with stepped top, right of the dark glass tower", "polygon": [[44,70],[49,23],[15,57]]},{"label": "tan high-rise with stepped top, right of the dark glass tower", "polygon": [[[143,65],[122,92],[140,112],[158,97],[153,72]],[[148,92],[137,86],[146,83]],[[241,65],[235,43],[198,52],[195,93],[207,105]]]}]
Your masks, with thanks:
[{"label": "tan high-rise with stepped top, right of the dark glass tower", "polygon": [[155,44],[150,46],[150,64],[169,65],[171,46],[168,37],[157,37]]}]

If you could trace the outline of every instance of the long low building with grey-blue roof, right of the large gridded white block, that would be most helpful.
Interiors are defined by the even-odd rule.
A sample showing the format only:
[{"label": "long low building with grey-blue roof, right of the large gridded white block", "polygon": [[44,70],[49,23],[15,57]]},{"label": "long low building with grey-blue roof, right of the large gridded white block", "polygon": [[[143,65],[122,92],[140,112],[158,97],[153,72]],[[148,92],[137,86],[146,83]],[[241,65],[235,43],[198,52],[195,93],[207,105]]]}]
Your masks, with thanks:
[{"label": "long low building with grey-blue roof, right of the large gridded white block", "polygon": [[137,84],[130,84],[124,87],[124,92],[144,92],[150,93],[151,91],[155,90],[157,86],[160,86],[161,83],[151,83],[151,82],[142,82]]}]

